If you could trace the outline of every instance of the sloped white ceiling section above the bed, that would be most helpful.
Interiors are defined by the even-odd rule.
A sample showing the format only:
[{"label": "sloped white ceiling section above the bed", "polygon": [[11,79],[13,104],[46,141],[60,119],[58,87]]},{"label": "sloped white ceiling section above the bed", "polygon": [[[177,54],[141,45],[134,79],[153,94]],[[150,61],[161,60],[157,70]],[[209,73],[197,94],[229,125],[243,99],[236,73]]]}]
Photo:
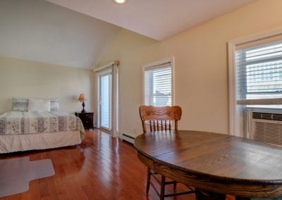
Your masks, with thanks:
[{"label": "sloped white ceiling section above the bed", "polygon": [[44,0],[0,1],[0,56],[92,68],[120,30]]}]

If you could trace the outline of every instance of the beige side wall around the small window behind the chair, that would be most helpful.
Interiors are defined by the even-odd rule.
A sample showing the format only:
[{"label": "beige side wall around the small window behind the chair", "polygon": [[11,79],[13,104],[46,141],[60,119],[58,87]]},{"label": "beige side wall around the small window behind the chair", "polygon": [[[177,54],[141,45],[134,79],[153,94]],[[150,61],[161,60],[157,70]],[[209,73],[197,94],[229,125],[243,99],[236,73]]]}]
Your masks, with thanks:
[{"label": "beige side wall around the small window behind the chair", "polygon": [[228,133],[226,43],[282,27],[282,1],[255,1],[163,42],[122,30],[99,65],[120,65],[120,131],[139,135],[142,65],[175,57],[176,104],[183,108],[180,129]]}]

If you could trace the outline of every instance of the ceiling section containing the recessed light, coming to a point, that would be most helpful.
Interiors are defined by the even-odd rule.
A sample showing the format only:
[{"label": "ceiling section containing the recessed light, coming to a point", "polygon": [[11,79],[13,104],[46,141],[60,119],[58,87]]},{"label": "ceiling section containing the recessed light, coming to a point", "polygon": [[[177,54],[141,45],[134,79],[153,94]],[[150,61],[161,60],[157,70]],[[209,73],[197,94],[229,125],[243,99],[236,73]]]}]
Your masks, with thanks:
[{"label": "ceiling section containing the recessed light, coming to a point", "polygon": [[255,0],[47,0],[162,40]]}]

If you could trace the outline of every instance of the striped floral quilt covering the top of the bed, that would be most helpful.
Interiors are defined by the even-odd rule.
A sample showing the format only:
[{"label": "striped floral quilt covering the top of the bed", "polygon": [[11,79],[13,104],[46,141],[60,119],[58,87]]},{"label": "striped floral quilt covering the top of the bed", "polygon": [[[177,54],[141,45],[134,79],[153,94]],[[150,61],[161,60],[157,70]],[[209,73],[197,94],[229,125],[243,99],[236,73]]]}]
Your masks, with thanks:
[{"label": "striped floral quilt covering the top of the bed", "polygon": [[18,112],[0,115],[0,135],[20,135],[42,132],[80,130],[81,139],[85,130],[80,118],[63,112]]}]

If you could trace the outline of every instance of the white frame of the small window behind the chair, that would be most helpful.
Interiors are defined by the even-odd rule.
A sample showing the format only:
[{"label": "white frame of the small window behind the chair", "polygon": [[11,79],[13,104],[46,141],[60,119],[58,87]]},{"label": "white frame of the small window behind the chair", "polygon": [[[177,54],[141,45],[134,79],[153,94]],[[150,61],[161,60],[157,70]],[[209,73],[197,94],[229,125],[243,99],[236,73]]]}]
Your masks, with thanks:
[{"label": "white frame of the small window behind the chair", "polygon": [[158,65],[163,65],[165,63],[171,63],[171,106],[175,104],[175,76],[174,76],[174,57],[159,60],[153,63],[148,63],[142,65],[142,104],[145,105],[145,70],[149,68],[161,68]]}]

